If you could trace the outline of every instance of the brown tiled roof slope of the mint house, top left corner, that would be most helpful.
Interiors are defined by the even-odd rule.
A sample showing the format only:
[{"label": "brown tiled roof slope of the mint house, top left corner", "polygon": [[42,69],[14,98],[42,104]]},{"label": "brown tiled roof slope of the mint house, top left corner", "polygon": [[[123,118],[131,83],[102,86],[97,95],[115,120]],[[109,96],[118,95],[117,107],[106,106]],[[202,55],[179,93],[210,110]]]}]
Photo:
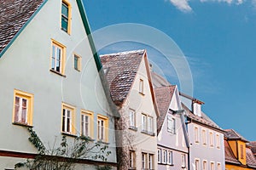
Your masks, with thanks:
[{"label": "brown tiled roof slope of the mint house, top left corner", "polygon": [[44,0],[0,0],[0,53]]}]

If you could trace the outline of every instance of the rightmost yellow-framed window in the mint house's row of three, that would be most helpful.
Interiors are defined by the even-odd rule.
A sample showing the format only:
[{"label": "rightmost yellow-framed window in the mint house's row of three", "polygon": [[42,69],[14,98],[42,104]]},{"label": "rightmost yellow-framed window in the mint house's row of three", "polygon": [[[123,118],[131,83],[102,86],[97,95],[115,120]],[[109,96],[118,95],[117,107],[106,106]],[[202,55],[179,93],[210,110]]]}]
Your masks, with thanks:
[{"label": "rightmost yellow-framed window in the mint house's row of three", "polygon": [[97,117],[98,140],[108,142],[108,118],[106,116]]}]

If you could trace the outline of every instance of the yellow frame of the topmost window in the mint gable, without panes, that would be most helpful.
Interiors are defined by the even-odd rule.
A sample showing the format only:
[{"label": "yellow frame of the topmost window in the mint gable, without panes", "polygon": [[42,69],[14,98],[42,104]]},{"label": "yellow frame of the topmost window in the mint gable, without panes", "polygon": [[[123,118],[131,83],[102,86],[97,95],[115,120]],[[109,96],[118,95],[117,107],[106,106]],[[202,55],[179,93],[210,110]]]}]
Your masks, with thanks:
[{"label": "yellow frame of the topmost window in the mint gable, without panes", "polygon": [[[62,14],[62,5],[63,3],[67,6],[67,13],[68,16],[65,16]],[[64,16],[65,19],[67,19],[67,31],[63,29],[62,27],[62,16]],[[71,3],[69,3],[67,0],[62,0],[61,1],[61,30],[67,32],[68,35],[71,34],[71,20],[72,20],[72,6]]]}]

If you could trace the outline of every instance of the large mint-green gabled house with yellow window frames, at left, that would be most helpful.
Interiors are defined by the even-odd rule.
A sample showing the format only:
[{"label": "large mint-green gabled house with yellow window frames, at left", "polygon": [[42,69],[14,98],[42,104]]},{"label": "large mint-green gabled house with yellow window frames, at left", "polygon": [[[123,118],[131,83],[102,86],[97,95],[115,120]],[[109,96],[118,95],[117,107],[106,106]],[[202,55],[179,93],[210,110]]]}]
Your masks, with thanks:
[{"label": "large mint-green gabled house with yellow window frames, at left", "polygon": [[[116,166],[114,118],[98,71],[101,63],[80,0],[1,1],[0,169],[14,169],[38,150],[27,127],[45,146],[87,136],[111,151]],[[100,96],[100,97],[99,97]],[[84,169],[83,160],[76,169]]]}]

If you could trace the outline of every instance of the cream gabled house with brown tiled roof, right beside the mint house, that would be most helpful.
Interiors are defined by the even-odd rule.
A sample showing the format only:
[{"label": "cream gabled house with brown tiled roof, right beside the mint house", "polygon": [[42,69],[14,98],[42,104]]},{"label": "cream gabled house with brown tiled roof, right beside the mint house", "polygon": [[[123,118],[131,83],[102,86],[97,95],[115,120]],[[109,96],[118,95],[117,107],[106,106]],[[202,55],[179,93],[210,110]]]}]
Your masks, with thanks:
[{"label": "cream gabled house with brown tiled roof, right beside the mint house", "polygon": [[158,111],[146,50],[101,55],[116,120],[119,169],[157,169]]}]

